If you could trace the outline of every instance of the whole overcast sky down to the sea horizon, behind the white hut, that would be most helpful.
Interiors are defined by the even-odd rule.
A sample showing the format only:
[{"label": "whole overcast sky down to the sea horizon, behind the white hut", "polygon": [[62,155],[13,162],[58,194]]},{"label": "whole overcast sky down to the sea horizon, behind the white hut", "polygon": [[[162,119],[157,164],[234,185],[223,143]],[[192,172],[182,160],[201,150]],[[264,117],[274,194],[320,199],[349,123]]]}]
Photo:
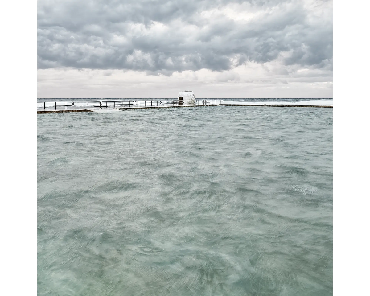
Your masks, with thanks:
[{"label": "whole overcast sky down to the sea horizon, behind the white hut", "polygon": [[334,98],[334,2],[38,0],[36,98]]}]

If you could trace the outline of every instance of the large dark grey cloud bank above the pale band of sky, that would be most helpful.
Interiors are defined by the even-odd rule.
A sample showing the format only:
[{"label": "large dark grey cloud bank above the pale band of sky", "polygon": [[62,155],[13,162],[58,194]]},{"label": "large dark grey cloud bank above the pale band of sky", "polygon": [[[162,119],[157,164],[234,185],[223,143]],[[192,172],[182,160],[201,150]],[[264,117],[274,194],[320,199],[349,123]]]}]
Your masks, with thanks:
[{"label": "large dark grey cloud bank above the pale band of sky", "polygon": [[[204,19],[202,11],[245,1],[47,1],[37,3],[37,67],[73,67],[146,71],[229,70],[231,58],[273,61],[282,52],[286,65],[327,67],[333,61],[330,20],[308,20],[301,1],[249,1],[262,17],[247,24],[219,15]],[[248,4],[248,3],[247,3]],[[285,5],[285,6],[284,6]],[[274,13],[268,11],[275,7]],[[167,31],[145,30],[153,22]],[[138,33],[134,33],[138,30]],[[235,65],[235,64],[234,64]]]}]

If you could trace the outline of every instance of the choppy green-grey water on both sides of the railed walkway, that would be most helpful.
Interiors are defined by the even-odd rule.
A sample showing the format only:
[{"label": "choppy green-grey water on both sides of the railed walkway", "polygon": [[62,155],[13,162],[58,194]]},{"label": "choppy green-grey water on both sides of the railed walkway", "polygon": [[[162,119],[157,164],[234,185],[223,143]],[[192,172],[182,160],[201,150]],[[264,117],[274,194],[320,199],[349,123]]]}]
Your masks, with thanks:
[{"label": "choppy green-grey water on both sides of the railed walkway", "polygon": [[334,108],[36,114],[37,295],[333,293]]}]

